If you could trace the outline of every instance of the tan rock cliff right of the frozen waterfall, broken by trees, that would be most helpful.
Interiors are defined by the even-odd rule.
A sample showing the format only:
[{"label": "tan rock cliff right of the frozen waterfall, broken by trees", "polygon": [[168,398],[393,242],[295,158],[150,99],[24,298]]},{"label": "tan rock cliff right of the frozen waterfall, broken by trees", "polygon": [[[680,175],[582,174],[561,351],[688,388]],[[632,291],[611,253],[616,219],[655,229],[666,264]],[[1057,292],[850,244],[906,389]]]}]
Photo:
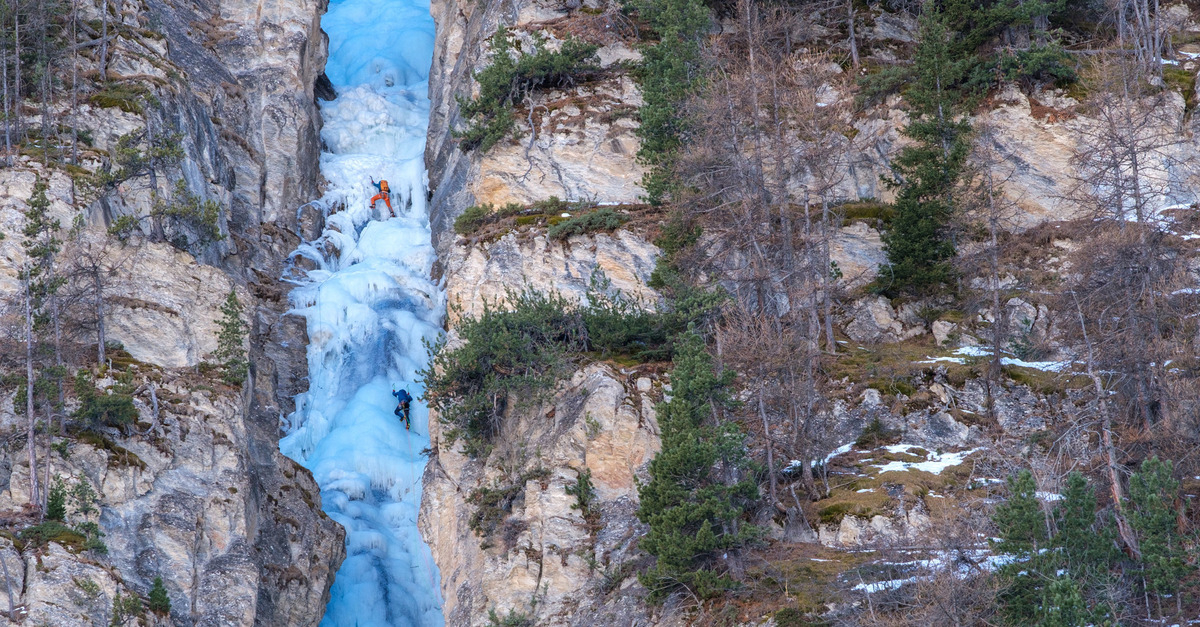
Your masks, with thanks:
[{"label": "tan rock cliff right of the frozen waterfall, broken by trees", "polygon": [[[563,241],[539,227],[517,226],[479,239],[456,234],[454,228],[455,219],[470,205],[528,205],[550,197],[637,201],[642,169],[634,157],[635,109],[641,96],[636,82],[620,68],[625,67],[622,61],[636,60],[638,53],[632,38],[622,32],[613,7],[593,0],[444,0],[433,2],[432,13],[438,31],[426,163],[438,271],[452,307],[451,336],[460,316],[479,312],[485,301],[503,300],[508,289],[559,291],[580,299],[598,270],[625,294],[653,306],[658,297],[646,285],[658,256],[648,241],[653,228]],[[916,22],[878,7],[872,7],[870,20],[874,29],[865,34],[870,44],[864,49],[871,49],[872,60],[883,66],[895,64],[898,52],[913,42]],[[488,38],[502,25],[512,28],[520,42],[528,42],[534,31],[552,42],[568,34],[584,36],[600,46],[601,64],[613,72],[575,89],[532,95],[515,107],[523,135],[484,154],[462,151],[454,137],[464,126],[456,97],[475,94],[473,77],[488,65]],[[596,35],[596,29],[604,34]],[[840,67],[829,72],[835,78],[823,85],[821,106],[840,104],[847,129],[841,169],[833,177],[840,199],[859,207],[889,202],[893,192],[880,177],[908,141],[900,133],[907,124],[901,101],[893,96],[865,108],[852,107],[853,77]],[[1189,72],[1194,73],[1194,66]],[[1186,102],[1193,98],[1194,94],[1168,90],[1150,103],[1159,114],[1159,126],[1147,132],[1171,135],[1171,129],[1188,127],[1193,123]],[[1004,228],[1014,238],[1048,221],[1086,216],[1086,209],[1070,201],[1080,185],[1072,155],[1088,145],[1103,124],[1096,111],[1062,89],[1008,85],[991,94],[976,113],[990,133],[986,149],[1006,174],[1002,193],[1014,209]],[[1194,138],[1187,136],[1151,155],[1148,175],[1169,181],[1151,204],[1196,201],[1195,173],[1181,166],[1195,151]],[[941,301],[893,304],[866,293],[863,286],[887,261],[880,237],[883,221],[851,211],[846,210],[829,251],[840,273],[836,327],[850,356],[828,372],[828,404],[818,420],[823,432],[810,434],[823,447],[821,456],[841,448],[820,464],[821,472],[828,473],[823,496],[803,506],[796,500],[796,508],[773,503],[792,513],[767,513],[756,522],[772,542],[802,541],[836,549],[887,542],[937,544],[938,536],[949,533],[931,536],[931,530],[978,518],[986,501],[979,494],[986,492],[988,482],[996,483],[1013,459],[1030,456],[1028,446],[1020,443],[1024,438],[1038,437],[1056,420],[1075,419],[1076,405],[1086,402],[1062,381],[1049,381],[1052,375],[1046,372],[1056,368],[1050,362],[1010,360],[1002,383],[985,388],[982,382],[979,338],[985,338],[1000,314],[1009,321],[1027,321],[1014,327],[1006,342],[1036,336],[1045,344],[1043,352],[1066,359],[1054,352],[1058,345],[1052,339],[1061,329],[1043,303],[1006,297],[1002,311],[973,304],[964,314],[947,310]],[[1020,267],[1013,269],[1020,279],[1006,274],[1002,288],[1032,285],[1036,281],[1030,276],[1039,271],[1070,270],[1060,257],[1078,243],[1045,233],[1028,237],[1038,241],[1032,246],[1055,255],[1049,261],[1020,259],[1013,265]],[[965,250],[970,247],[964,244]],[[965,281],[990,280],[967,276]],[[966,352],[952,352],[956,350]],[[644,478],[646,462],[659,447],[653,407],[662,398],[664,384],[670,384],[665,378],[616,364],[587,365],[562,383],[551,401],[508,416],[487,460],[439,446],[439,425],[432,422],[434,453],[425,476],[420,525],[442,572],[448,625],[488,625],[491,611],[499,620],[523,616],[536,625],[684,620],[644,603],[646,591],[631,577],[647,560],[636,549],[644,532],[635,515],[636,482]],[[864,440],[862,434],[872,428],[886,437]],[[758,459],[766,456],[755,453]],[[572,508],[576,503],[566,491],[584,468],[592,472],[599,494],[590,514]],[[800,510],[810,519],[794,519]],[[820,555],[812,560],[839,562],[848,554]],[[854,560],[846,563],[860,563]],[[802,559],[798,572],[812,572],[806,561]],[[839,563],[839,568],[846,566]],[[763,578],[775,581],[778,574]],[[743,625],[760,622],[739,616]]]}]

